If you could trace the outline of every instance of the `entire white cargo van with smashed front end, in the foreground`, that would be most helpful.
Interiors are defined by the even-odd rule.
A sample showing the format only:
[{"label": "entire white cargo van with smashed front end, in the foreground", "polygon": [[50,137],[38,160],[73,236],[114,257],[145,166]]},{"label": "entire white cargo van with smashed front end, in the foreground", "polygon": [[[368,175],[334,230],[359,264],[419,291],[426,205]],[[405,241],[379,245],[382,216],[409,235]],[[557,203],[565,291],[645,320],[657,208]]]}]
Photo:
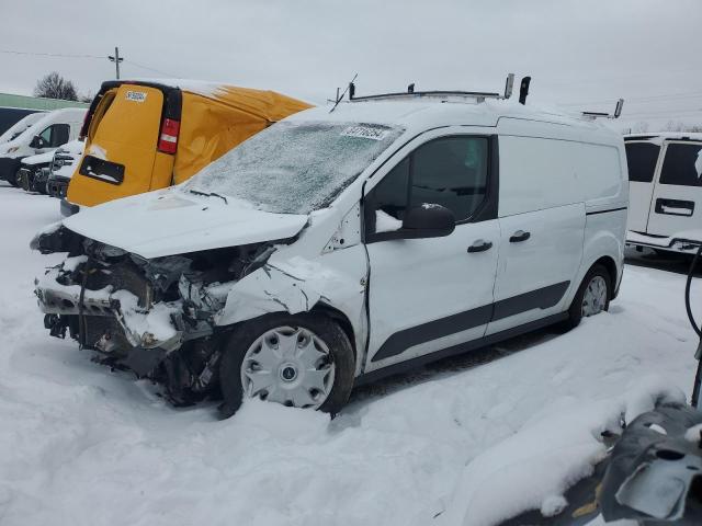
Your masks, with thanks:
[{"label": "entire white cargo van with smashed front end, in the foreground", "polygon": [[32,242],[55,336],[186,403],[336,412],[354,385],[607,310],[622,276],[622,137],[486,94],[298,113],[179,186]]}]

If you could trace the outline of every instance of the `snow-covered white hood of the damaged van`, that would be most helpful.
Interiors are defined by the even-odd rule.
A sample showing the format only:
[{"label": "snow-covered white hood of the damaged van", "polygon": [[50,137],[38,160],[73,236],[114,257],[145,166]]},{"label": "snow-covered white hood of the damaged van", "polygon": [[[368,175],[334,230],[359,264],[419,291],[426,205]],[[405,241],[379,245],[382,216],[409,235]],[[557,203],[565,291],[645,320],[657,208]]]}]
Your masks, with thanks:
[{"label": "snow-covered white hood of the damaged van", "polygon": [[150,259],[291,238],[307,216],[168,188],[83,207],[63,222],[90,239]]}]

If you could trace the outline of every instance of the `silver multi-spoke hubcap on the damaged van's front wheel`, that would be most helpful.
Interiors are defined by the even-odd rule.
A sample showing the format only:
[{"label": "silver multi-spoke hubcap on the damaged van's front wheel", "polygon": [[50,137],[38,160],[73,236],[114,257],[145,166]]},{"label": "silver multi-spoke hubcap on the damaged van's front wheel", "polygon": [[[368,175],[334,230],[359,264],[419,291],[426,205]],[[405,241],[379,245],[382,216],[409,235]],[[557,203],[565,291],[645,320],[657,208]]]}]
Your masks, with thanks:
[{"label": "silver multi-spoke hubcap on the damaged van's front wheel", "polygon": [[263,333],[241,363],[246,396],[295,408],[319,408],[331,392],[333,377],[329,347],[302,327],[279,327]]}]

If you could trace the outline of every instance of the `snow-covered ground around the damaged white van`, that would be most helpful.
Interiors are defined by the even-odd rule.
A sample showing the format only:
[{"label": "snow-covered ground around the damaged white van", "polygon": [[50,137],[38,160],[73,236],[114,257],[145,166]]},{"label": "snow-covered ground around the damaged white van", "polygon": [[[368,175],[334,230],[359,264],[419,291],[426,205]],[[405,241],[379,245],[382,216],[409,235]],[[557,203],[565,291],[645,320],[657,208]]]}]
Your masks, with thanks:
[{"label": "snow-covered ground around the damaged white van", "polygon": [[173,409],[49,338],[33,279],[60,256],[29,241],[58,202],[2,184],[3,526],[494,524],[557,508],[601,456],[599,431],[692,385],[684,276],[629,265],[609,313],[367,386],[333,421]]}]

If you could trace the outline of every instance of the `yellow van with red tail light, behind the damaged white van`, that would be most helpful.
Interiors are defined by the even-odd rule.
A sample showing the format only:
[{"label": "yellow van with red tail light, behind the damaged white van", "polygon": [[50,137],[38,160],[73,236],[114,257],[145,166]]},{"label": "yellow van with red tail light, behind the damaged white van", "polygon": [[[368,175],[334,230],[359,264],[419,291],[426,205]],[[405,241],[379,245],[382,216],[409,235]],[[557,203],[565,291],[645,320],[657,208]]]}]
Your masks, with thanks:
[{"label": "yellow van with red tail light, behind the damaged white van", "polygon": [[308,107],[272,91],[199,81],[103,82],[86,115],[84,155],[61,211],[182,183],[239,142]]}]

